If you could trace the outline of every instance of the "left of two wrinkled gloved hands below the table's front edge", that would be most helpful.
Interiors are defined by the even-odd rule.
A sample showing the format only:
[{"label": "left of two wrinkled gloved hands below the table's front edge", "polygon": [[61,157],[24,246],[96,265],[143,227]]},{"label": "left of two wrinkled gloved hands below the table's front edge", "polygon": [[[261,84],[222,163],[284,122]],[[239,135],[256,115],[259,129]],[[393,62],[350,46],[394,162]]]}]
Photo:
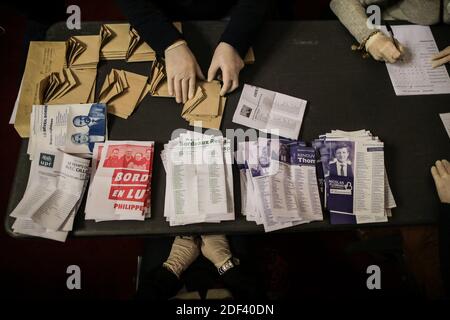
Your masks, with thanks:
[{"label": "left of two wrinkled gloved hands below the table's front edge", "polygon": [[178,278],[200,254],[196,240],[194,237],[176,237],[172,244],[170,255],[163,266]]}]

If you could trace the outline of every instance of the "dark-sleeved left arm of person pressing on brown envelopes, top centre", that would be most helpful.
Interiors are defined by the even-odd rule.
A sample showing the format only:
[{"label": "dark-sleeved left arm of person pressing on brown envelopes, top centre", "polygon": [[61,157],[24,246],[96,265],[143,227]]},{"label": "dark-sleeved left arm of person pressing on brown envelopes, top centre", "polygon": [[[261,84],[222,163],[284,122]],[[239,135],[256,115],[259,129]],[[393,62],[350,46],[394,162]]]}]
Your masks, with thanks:
[{"label": "dark-sleeved left arm of person pressing on brown envelopes, top centre", "polygon": [[182,38],[172,22],[151,1],[116,1],[130,24],[158,55],[163,56],[167,47]]}]

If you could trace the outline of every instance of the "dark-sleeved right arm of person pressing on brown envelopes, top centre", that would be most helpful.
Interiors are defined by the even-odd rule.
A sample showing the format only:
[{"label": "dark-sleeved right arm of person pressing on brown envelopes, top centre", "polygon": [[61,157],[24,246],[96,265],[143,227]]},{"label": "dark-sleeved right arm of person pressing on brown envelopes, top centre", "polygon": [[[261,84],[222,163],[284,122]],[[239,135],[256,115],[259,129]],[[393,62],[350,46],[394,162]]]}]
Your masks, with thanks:
[{"label": "dark-sleeved right arm of person pressing on brown envelopes, top centre", "polygon": [[232,45],[244,58],[264,22],[268,4],[268,0],[238,1],[220,41]]}]

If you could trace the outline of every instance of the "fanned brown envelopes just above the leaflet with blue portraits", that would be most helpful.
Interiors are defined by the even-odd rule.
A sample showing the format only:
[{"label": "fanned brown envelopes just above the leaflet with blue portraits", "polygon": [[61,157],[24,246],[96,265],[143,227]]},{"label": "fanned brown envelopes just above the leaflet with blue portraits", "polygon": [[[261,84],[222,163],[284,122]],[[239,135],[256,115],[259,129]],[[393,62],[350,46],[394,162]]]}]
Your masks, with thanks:
[{"label": "fanned brown envelopes just above the leaflet with blue portraits", "polygon": [[99,102],[108,104],[108,112],[127,119],[145,95],[148,77],[112,69],[100,90]]}]

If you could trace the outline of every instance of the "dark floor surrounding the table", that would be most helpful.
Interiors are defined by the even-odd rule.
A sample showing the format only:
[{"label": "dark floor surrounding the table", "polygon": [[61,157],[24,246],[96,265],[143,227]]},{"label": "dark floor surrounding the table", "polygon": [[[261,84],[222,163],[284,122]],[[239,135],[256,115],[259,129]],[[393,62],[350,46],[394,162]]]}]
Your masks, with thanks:
[{"label": "dark floor surrounding the table", "polygon": [[[12,1],[10,1],[13,3]],[[297,1],[292,10],[279,10],[286,18],[328,18],[325,1]],[[289,1],[282,1],[289,3]],[[71,1],[82,8],[82,20],[119,20],[121,14],[112,1]],[[0,170],[0,212],[3,222],[9,189],[15,170],[20,138],[8,120],[19,88],[24,57],[26,19],[0,6],[0,136],[8,162]],[[424,254],[408,254],[417,247],[427,228],[358,232],[304,233],[251,236],[255,263],[264,275],[272,298],[363,298],[438,296],[439,278],[436,245]],[[406,234],[406,236],[405,236]],[[361,239],[381,237],[389,244],[403,235],[412,243],[406,255],[397,247],[383,253],[362,252],[355,246]],[[390,237],[390,238],[389,238]],[[151,240],[149,240],[151,241]],[[379,243],[379,242],[378,242]],[[416,243],[416,244],[414,244]],[[15,240],[0,228],[0,283],[3,296],[13,298],[131,298],[134,293],[137,256],[143,252],[143,238],[70,238],[65,244],[47,240]],[[430,258],[431,257],[431,258]],[[407,265],[405,265],[407,263]],[[66,268],[82,270],[82,290],[66,289]],[[366,268],[371,264],[383,270],[383,290],[366,288]],[[414,276],[412,276],[412,274]]]}]

